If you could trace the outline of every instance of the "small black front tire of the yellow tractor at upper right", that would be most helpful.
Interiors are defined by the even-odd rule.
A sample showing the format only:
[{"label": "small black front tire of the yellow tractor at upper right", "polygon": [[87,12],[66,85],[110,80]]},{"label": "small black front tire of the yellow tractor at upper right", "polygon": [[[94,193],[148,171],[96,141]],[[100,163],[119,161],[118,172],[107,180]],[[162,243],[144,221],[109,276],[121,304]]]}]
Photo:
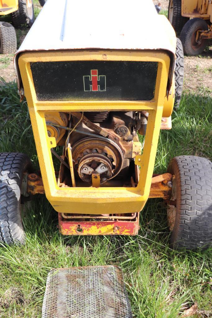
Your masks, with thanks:
[{"label": "small black front tire of the yellow tractor at upper right", "polygon": [[199,30],[208,30],[207,22],[201,18],[191,19],[184,25],[180,34],[180,40],[185,54],[198,55],[204,51],[207,40],[203,39],[201,43],[196,42],[196,34]]}]

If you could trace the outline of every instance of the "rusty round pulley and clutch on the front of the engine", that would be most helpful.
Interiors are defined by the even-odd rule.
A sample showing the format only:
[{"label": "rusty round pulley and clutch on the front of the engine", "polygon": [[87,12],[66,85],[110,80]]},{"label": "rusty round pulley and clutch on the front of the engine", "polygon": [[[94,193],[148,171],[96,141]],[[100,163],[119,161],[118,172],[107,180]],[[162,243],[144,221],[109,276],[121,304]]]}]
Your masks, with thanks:
[{"label": "rusty round pulley and clutch on the front of the engine", "polygon": [[119,146],[110,139],[86,137],[72,146],[74,168],[81,180],[92,183],[92,173],[100,174],[104,183],[117,176],[123,166],[124,156]]}]

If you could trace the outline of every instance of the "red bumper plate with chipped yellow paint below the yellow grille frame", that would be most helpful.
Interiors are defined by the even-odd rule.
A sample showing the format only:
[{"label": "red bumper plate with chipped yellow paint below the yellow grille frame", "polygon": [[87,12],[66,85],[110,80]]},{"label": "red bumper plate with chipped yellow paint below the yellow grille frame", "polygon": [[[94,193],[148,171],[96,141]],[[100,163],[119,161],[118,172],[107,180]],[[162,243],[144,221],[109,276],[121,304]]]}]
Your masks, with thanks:
[{"label": "red bumper plate with chipped yellow paint below the yellow grille frame", "polygon": [[139,229],[139,213],[136,221],[64,221],[61,213],[58,219],[63,235],[136,235]]}]

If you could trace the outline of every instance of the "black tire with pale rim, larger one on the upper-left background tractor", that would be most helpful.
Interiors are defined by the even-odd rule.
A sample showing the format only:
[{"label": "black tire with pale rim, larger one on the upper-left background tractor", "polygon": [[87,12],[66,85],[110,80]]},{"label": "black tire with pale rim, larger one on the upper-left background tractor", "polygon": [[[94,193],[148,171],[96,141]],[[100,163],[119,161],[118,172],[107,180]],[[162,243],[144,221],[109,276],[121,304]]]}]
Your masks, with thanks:
[{"label": "black tire with pale rim, larger one on the upper-left background tractor", "polygon": [[12,13],[12,23],[15,27],[32,26],[35,20],[33,0],[18,0],[18,10]]}]

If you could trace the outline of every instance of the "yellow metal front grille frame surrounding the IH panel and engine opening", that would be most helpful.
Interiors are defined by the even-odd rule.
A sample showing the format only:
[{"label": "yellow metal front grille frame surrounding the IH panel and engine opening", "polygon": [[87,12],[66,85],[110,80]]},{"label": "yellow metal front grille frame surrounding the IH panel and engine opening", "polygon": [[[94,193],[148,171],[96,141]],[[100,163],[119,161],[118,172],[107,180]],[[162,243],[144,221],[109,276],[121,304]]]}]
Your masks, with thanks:
[{"label": "yellow metal front grille frame surrounding the IH panel and engine opening", "polygon": [[[155,96],[151,101],[39,101],[36,98],[30,63],[47,61],[156,61],[158,73],[155,86]],[[33,134],[39,158],[45,194],[53,208],[59,213],[78,214],[114,214],[138,213],[141,211],[150,195],[152,174],[157,151],[161,119],[171,116],[174,96],[169,95],[165,102],[167,81],[170,68],[170,57],[161,51],[57,51],[21,53],[18,59],[25,96],[29,107]],[[174,92],[174,82],[172,83]],[[61,188],[57,184],[51,149],[56,147],[54,137],[48,137],[45,112],[82,112],[82,111],[141,111],[149,113],[143,154],[135,156],[135,165],[140,166],[138,185],[135,187],[69,187]],[[167,187],[168,188],[168,187]],[[166,189],[167,190],[167,189]],[[36,192],[36,187],[31,191]],[[43,193],[43,191],[41,191]],[[34,194],[33,193],[33,194]],[[154,195],[153,195],[154,197]],[[158,197],[156,195],[155,197]],[[159,197],[164,197],[161,192]]]}]

